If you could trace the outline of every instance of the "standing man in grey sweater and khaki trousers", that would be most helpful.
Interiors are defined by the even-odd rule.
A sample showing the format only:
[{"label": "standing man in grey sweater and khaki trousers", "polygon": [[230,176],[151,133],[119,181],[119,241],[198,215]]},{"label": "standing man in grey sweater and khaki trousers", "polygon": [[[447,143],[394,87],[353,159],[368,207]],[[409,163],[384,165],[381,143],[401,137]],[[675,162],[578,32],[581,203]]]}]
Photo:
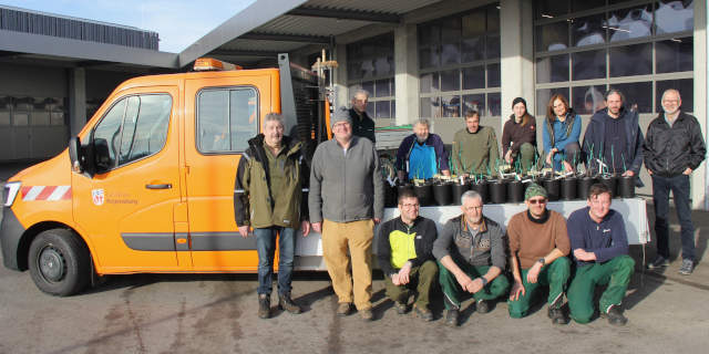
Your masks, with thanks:
[{"label": "standing man in grey sweater and khaki trousers", "polygon": [[352,135],[346,110],[336,112],[330,124],[335,138],[318,145],[312,156],[310,221],[312,230],[322,233],[322,257],[339,302],[337,314],[348,315],[353,300],[362,319],[371,321],[372,237],[374,223],[384,214],[379,158],[371,140]]}]

